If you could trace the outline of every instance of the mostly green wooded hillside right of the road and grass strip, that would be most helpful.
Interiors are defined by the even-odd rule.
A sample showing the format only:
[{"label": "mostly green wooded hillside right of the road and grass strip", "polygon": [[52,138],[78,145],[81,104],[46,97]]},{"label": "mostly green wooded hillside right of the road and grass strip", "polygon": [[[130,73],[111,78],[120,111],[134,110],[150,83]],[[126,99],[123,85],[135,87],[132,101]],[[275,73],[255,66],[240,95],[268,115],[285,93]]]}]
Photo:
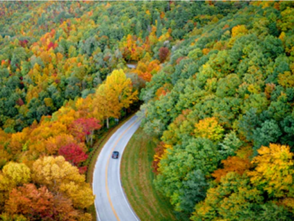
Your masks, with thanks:
[{"label": "mostly green wooded hillside right of the road and grass strip", "polygon": [[293,220],[293,2],[209,4],[140,94],[154,183],[187,219]]}]

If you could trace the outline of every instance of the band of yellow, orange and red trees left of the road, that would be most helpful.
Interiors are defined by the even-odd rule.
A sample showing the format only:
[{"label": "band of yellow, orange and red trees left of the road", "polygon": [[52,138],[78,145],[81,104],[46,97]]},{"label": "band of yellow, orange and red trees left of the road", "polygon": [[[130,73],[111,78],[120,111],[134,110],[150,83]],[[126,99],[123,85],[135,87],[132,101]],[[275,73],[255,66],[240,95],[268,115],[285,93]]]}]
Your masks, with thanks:
[{"label": "band of yellow, orange and red trees left of the road", "polygon": [[[111,97],[103,94],[104,87]],[[137,93],[124,72],[115,71],[106,83],[99,86],[95,95],[69,102],[53,116],[42,117],[40,123],[35,122],[22,132],[1,133],[1,157],[6,157],[2,162],[6,163],[10,158],[3,145],[24,161],[7,163],[0,172],[3,215],[17,213],[30,220],[49,217],[54,220],[90,220],[91,215],[84,213],[83,209],[93,204],[94,197],[81,175],[87,169],[83,162],[95,140],[95,131],[103,126],[101,122],[109,117],[119,118],[122,108],[129,108],[136,101]],[[114,114],[97,112],[97,106],[110,104],[117,104]],[[60,156],[46,156],[51,154]],[[34,212],[30,213],[30,210]]]}]

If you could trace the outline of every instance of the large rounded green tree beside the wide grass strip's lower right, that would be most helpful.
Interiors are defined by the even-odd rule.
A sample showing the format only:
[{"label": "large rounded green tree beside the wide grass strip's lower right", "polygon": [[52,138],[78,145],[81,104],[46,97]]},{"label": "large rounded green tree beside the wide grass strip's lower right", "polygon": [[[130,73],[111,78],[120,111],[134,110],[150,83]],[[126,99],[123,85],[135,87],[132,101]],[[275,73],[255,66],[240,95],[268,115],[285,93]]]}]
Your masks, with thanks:
[{"label": "large rounded green tree beside the wide grass strip's lower right", "polygon": [[[181,146],[168,149],[168,154],[159,164],[155,186],[170,197],[177,211],[190,211],[193,203],[203,199],[207,186],[204,176],[210,177],[220,160],[217,147],[211,140],[190,139]],[[203,191],[197,192],[199,189]],[[188,197],[189,194],[194,198]]]}]

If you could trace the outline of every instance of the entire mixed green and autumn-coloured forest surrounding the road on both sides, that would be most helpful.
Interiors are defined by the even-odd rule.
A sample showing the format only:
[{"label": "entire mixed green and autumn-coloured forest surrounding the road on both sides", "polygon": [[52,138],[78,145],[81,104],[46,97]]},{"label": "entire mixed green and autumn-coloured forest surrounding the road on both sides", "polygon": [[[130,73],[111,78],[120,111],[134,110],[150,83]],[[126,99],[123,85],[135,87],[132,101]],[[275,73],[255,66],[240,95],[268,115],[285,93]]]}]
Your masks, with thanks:
[{"label": "entire mixed green and autumn-coloured forest surrounding the road on both sides", "polygon": [[84,163],[140,104],[182,220],[294,219],[293,1],[0,5],[0,220],[92,220]]}]

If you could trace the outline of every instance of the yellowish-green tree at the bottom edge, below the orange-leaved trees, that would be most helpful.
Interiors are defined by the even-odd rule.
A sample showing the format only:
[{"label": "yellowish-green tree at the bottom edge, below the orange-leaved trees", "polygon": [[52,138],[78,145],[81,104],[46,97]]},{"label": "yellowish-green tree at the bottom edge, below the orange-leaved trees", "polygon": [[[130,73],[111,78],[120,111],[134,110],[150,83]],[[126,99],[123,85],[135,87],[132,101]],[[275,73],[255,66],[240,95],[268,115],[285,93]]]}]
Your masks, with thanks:
[{"label": "yellowish-green tree at the bottom edge, below the orange-leaved trees", "polygon": [[191,217],[200,220],[289,220],[292,215],[273,202],[263,204],[262,192],[250,185],[250,179],[230,172],[206,199],[195,206]]}]

